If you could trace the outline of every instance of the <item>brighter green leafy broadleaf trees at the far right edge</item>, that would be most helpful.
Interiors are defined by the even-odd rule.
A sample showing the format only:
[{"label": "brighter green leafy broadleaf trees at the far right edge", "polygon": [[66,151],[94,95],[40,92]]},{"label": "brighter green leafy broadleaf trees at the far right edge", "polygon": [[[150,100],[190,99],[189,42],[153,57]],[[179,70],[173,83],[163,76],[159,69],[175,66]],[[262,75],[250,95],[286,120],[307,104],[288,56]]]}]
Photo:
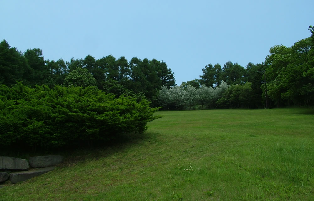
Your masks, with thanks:
[{"label": "brighter green leafy broadleaf trees at the far right edge", "polygon": [[314,98],[311,77],[311,38],[299,40],[291,47],[275,45],[266,57],[267,93],[277,107],[309,105]]}]

